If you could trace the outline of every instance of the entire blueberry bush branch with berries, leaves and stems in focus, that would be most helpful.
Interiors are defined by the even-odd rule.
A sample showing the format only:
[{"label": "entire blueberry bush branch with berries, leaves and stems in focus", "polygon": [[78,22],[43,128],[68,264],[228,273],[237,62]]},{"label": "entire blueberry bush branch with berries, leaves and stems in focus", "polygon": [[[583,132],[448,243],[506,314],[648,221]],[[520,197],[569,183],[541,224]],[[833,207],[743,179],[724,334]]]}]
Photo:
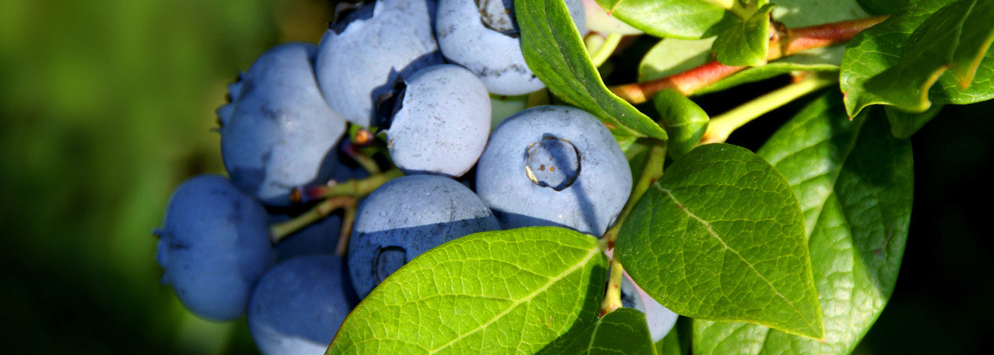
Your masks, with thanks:
[{"label": "entire blueberry bush branch with berries, leaves and stems in focus", "polygon": [[248,309],[267,354],[850,353],[901,269],[909,137],[994,97],[991,1],[340,5],[229,87],[231,183],[159,230],[180,300]]}]

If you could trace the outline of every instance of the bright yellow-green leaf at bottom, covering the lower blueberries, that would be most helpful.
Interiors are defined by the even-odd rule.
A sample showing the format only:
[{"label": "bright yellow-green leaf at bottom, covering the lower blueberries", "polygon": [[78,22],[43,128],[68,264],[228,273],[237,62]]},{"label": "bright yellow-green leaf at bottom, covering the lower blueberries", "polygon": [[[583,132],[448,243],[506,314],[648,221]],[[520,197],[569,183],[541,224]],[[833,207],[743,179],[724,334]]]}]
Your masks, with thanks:
[{"label": "bright yellow-green leaf at bottom, covering the lower blueberries", "polygon": [[387,277],[328,354],[534,353],[596,321],[606,267],[597,240],[562,228],[459,238]]}]

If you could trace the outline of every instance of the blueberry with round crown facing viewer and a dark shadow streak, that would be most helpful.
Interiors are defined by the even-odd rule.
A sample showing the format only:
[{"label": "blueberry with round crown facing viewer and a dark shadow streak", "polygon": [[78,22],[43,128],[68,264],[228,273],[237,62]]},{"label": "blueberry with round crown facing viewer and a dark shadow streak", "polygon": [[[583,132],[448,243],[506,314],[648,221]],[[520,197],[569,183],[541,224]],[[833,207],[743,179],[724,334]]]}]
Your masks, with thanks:
[{"label": "blueberry with round crown facing viewer and a dark shadow streak", "polygon": [[568,227],[599,237],[631,191],[616,140],[596,117],[546,105],[507,117],[476,166],[476,192],[504,229]]}]

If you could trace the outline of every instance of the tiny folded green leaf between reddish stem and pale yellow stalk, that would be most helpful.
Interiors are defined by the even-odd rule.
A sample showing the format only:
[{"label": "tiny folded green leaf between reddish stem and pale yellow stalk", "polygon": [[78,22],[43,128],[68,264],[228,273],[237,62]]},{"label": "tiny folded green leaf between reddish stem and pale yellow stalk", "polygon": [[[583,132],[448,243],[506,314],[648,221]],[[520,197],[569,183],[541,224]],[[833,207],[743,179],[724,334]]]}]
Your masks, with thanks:
[{"label": "tiny folded green leaf between reddish stem and pale yellow stalk", "polygon": [[672,89],[656,93],[653,102],[659,111],[659,120],[666,127],[670,140],[669,154],[679,157],[697,146],[708,130],[708,113],[690,98]]}]

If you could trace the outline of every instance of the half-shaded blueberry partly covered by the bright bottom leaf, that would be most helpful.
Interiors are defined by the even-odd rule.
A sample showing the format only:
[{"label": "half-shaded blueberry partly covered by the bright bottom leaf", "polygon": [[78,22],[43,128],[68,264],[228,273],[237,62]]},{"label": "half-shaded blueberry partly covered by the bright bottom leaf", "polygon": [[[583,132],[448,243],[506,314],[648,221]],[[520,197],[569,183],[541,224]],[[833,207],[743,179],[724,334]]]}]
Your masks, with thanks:
[{"label": "half-shaded blueberry partly covered by the bright bottom leaf", "polygon": [[459,237],[500,228],[476,195],[455,180],[408,175],[378,188],[359,207],[349,240],[349,274],[365,297],[395,270]]}]

